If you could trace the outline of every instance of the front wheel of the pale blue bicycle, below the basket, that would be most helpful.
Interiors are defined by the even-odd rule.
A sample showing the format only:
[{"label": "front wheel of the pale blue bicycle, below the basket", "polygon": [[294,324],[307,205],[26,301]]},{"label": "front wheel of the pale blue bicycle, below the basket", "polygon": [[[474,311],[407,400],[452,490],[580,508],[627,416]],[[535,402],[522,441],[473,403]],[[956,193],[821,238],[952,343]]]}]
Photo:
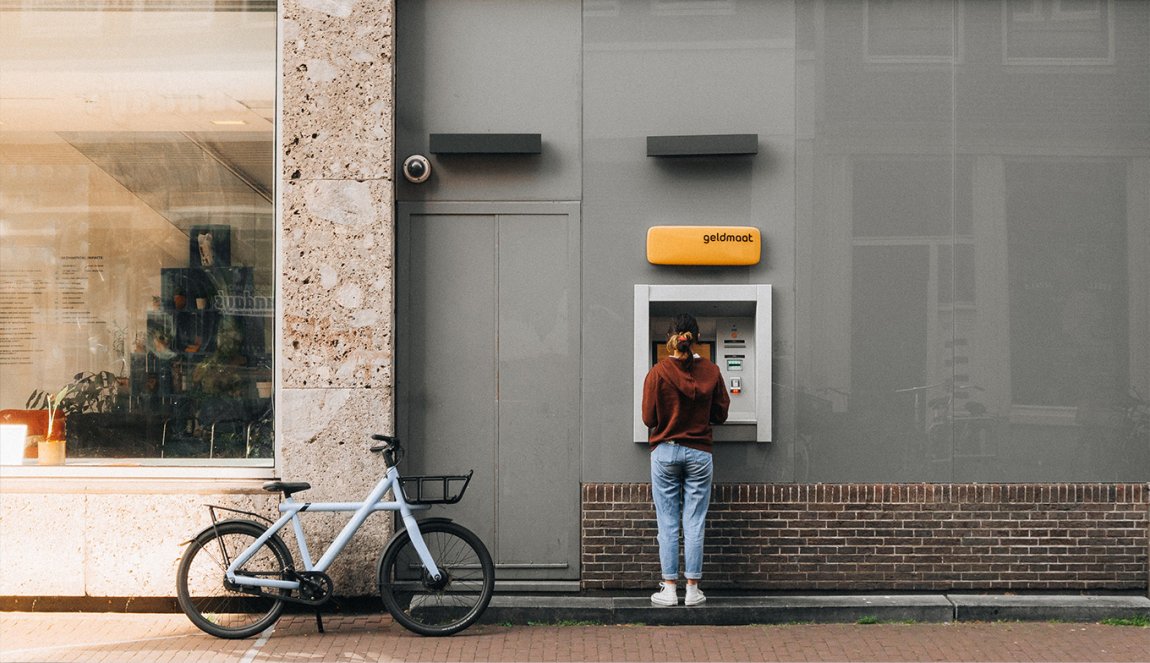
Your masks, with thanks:
[{"label": "front wheel of the pale blue bicycle, below the basket", "polygon": [[483,541],[448,521],[420,525],[423,542],[439,566],[430,577],[408,532],[379,560],[379,595],[388,611],[420,635],[451,635],[474,624],[491,602],[496,569]]}]

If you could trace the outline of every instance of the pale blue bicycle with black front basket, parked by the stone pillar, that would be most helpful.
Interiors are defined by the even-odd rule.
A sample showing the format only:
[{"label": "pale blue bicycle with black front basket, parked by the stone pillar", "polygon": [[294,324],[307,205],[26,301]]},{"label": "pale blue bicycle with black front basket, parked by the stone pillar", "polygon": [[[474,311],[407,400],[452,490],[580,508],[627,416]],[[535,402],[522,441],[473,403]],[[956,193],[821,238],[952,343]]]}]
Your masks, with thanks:
[{"label": "pale blue bicycle with black front basket, parked by the stone pillar", "polygon": [[[404,529],[379,555],[377,585],[384,607],[406,629],[421,635],[451,635],[483,615],[494,591],[494,565],[483,541],[448,518],[416,521],[431,504],[453,504],[471,480],[465,476],[400,477],[402,446],[390,435],[371,435],[386,472],[362,502],[299,502],[293,494],[306,483],[269,481],[263,489],[283,493],[275,522],[258,514],[208,504],[212,525],[190,541],[179,561],[176,594],[187,618],[217,638],[248,638],[276,623],[288,603],[320,608],[331,600],[334,584],[325,571],[352,535],[375,511],[398,511]],[[384,495],[391,492],[391,499]],[[457,492],[458,491],[458,492]],[[217,511],[251,516],[221,519]],[[317,562],[312,561],[301,516],[352,512]],[[291,524],[304,570],[297,570],[278,532]]]}]

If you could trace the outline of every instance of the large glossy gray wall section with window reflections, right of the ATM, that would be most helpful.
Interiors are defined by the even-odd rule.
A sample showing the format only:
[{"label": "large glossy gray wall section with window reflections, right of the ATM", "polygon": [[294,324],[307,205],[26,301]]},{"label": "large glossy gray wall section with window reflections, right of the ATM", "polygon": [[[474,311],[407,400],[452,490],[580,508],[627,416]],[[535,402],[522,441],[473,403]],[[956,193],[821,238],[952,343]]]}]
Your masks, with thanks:
[{"label": "large glossy gray wall section with window reflections, right of the ATM", "polygon": [[[1148,476],[1150,6],[818,7],[799,478]],[[961,57],[859,64],[917,29]]]}]

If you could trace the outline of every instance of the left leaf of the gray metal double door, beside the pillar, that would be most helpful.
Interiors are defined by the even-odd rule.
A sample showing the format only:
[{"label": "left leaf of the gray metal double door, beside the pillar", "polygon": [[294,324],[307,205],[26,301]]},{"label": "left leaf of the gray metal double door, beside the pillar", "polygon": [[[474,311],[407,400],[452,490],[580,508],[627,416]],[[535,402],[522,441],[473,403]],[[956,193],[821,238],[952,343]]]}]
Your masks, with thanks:
[{"label": "left leaf of the gray metal double door, beside the pillar", "polygon": [[408,449],[402,471],[444,475],[474,469],[465,501],[443,515],[492,541],[496,217],[401,208],[398,224],[397,418]]}]

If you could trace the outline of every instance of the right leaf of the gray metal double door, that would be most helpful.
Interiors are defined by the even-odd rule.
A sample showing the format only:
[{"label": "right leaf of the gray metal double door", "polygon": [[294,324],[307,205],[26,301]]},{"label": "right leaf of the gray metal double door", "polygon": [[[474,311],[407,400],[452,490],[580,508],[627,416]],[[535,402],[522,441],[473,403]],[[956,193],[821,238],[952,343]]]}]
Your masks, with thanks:
[{"label": "right leaf of the gray metal double door", "polygon": [[504,562],[575,572],[583,344],[577,207],[565,207],[499,221],[498,522]]}]

